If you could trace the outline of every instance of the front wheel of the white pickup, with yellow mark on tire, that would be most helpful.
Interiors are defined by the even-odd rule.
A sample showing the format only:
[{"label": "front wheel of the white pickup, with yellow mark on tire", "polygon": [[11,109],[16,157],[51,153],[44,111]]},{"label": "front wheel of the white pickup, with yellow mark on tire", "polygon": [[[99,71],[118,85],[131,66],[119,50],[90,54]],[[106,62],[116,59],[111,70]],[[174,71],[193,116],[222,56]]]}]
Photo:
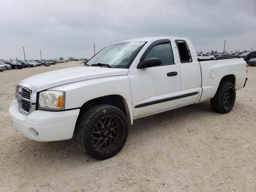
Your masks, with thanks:
[{"label": "front wheel of the white pickup, with yellow mark on tire", "polygon": [[116,155],[126,143],[129,124],[122,110],[97,105],[86,111],[76,124],[76,141],[80,149],[97,160]]}]

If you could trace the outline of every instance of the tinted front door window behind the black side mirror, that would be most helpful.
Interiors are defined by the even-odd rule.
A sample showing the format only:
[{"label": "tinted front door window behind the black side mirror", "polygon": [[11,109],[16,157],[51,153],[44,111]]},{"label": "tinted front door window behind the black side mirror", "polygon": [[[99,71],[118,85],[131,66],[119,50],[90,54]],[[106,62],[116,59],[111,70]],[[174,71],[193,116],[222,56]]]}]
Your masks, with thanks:
[{"label": "tinted front door window behind the black side mirror", "polygon": [[154,46],[145,57],[145,59],[148,58],[160,58],[162,65],[174,64],[171,44],[165,43]]}]

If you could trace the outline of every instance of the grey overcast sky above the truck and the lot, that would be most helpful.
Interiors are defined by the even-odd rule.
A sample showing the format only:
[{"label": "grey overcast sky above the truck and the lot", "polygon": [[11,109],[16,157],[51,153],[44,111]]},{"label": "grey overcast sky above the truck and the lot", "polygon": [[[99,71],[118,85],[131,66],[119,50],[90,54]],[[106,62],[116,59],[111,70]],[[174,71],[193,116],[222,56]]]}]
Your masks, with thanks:
[{"label": "grey overcast sky above the truck and the lot", "polygon": [[256,49],[256,0],[0,0],[0,59],[90,58],[115,42],[184,36],[197,51]]}]

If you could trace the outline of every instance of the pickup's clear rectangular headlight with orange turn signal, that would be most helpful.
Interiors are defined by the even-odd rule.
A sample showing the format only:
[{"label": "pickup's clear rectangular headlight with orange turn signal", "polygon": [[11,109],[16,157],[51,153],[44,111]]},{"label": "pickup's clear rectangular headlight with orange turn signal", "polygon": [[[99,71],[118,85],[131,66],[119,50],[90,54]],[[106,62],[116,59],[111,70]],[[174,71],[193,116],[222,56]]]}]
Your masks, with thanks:
[{"label": "pickup's clear rectangular headlight with orange turn signal", "polygon": [[65,108],[64,91],[43,91],[39,93],[38,109],[63,110]]}]

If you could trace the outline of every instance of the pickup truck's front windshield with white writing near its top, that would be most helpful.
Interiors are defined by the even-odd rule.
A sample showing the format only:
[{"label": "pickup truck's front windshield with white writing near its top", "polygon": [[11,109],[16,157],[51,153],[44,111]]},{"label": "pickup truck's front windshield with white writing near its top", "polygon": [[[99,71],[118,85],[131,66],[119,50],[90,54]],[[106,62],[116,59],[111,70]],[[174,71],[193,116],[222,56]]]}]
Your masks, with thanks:
[{"label": "pickup truck's front windshield with white writing near its top", "polygon": [[121,42],[110,45],[94,57],[92,57],[86,64],[109,64],[113,68],[129,68],[134,58],[146,42]]}]

